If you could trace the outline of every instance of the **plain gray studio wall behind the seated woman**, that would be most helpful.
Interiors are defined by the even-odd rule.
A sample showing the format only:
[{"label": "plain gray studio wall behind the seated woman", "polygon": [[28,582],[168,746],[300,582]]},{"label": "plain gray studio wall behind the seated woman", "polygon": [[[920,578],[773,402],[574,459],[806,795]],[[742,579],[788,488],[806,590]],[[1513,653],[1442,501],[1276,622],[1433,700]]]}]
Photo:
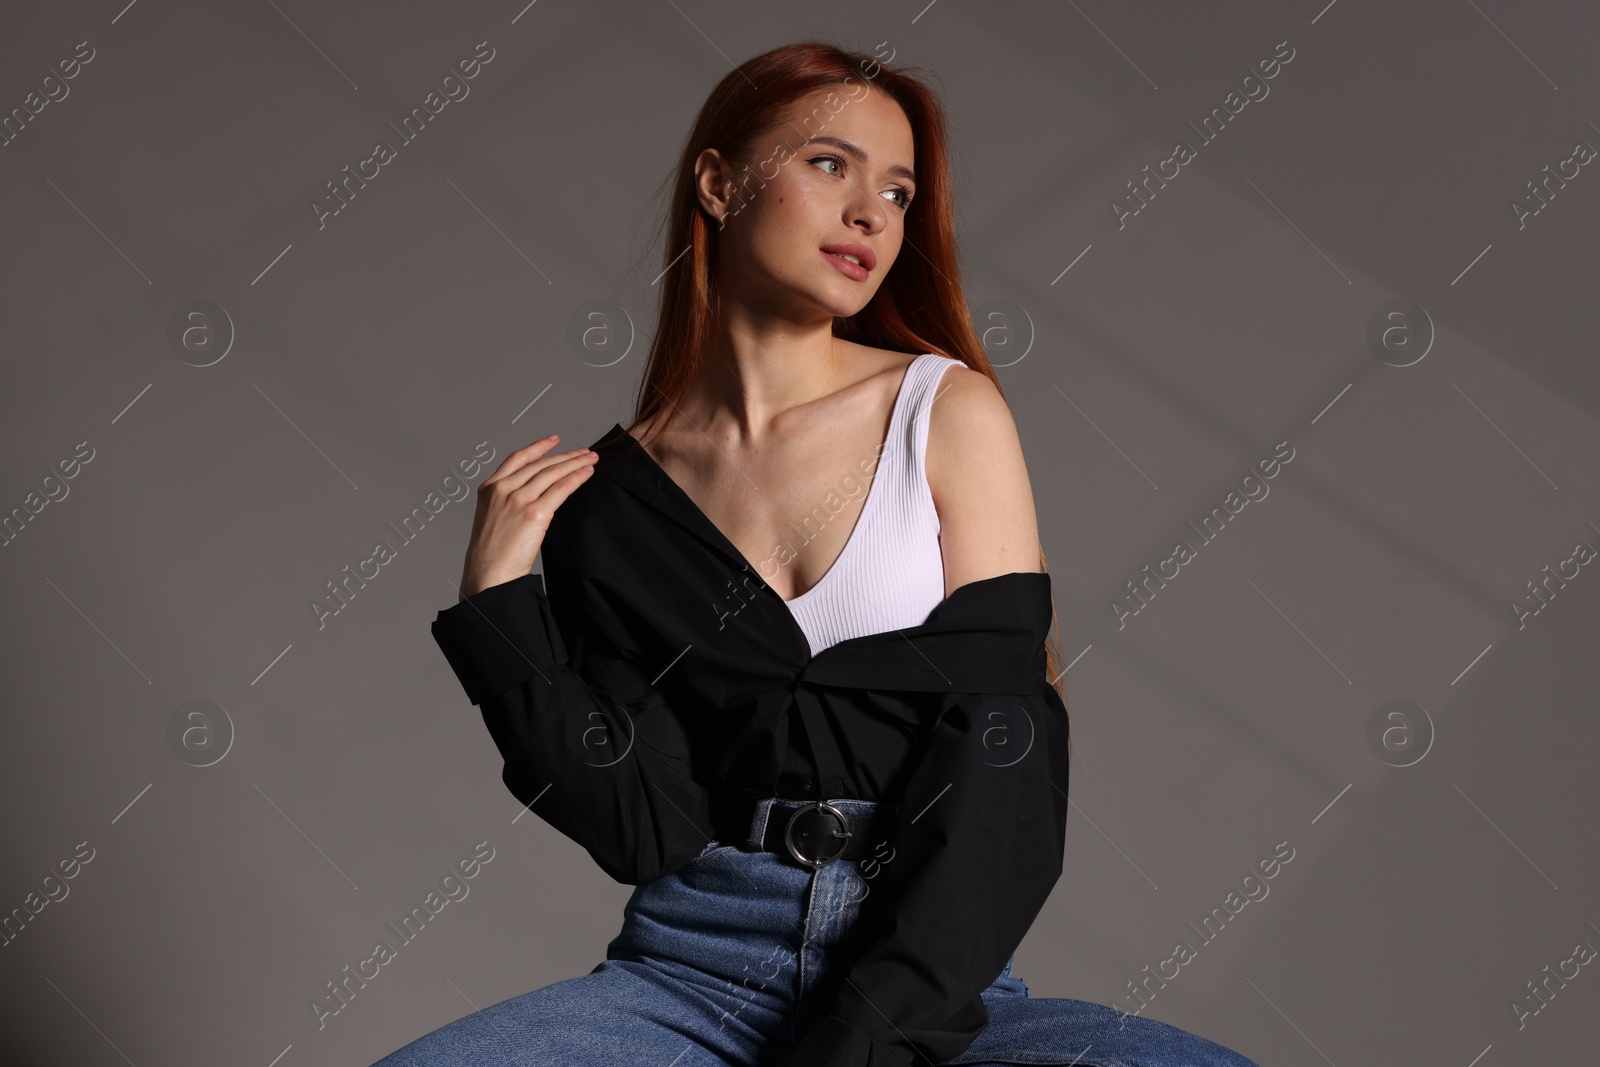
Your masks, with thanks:
[{"label": "plain gray studio wall behind the seated woman", "polygon": [[[1261,1064],[1592,1059],[1594,968],[1522,1025],[1510,1001],[1600,945],[1600,577],[1523,627],[1512,603],[1600,547],[1600,174],[1522,227],[1510,203],[1600,146],[1597,29],[1510,0],[8,11],[0,109],[96,58],[0,147],[0,509],[94,458],[0,549],[0,910],[94,857],[0,949],[0,1059],[362,1065],[603,957],[629,888],[512,824],[429,635],[472,504],[325,629],[309,601],[478,442],[498,464],[626,421],[651,195],[731,64],[811,35],[939,72],[968,299],[1005,326],[1080,745],[1032,992],[1133,1006],[1187,939],[1146,1014]],[[470,96],[318,230],[323,184],[485,40]],[[1118,229],[1178,139],[1195,160]],[[166,339],[195,299],[234,330],[210,366]],[[621,360],[566,342],[594,299],[637,330]],[[1386,362],[1394,299],[1430,328]],[[1285,440],[1270,494],[1118,627],[1125,584]],[[197,699],[229,723],[200,750],[232,731],[210,766],[168,742]],[[1386,747],[1389,701],[1413,710]],[[310,997],[482,840],[470,894],[318,1030]]]}]

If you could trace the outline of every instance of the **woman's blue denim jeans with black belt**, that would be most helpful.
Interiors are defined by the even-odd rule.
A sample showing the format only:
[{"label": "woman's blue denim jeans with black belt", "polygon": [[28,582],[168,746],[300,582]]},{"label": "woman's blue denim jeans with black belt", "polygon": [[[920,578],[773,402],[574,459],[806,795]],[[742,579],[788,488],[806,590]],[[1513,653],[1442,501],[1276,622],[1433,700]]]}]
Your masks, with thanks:
[{"label": "woman's blue denim jeans with black belt", "polygon": [[[867,800],[834,800],[870,811]],[[806,1021],[806,993],[829,974],[829,949],[869,893],[858,861],[816,872],[712,841],[670,875],[637,886],[622,931],[594,971],[446,1024],[374,1067],[490,1064],[659,1064],[754,1067]],[[1221,1045],[1157,1019],[1061,997],[1030,997],[1011,961],[982,993],[989,1025],[947,1064],[1078,1067],[1256,1067]]]}]

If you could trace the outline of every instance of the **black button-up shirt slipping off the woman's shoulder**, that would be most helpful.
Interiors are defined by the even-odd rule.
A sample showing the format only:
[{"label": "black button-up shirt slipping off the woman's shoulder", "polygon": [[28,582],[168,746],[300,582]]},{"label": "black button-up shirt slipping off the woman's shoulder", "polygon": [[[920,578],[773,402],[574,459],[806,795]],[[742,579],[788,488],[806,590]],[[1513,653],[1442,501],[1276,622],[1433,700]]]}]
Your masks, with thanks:
[{"label": "black button-up shirt slipping off the woman's shoulder", "polygon": [[1061,875],[1050,576],[968,582],[922,625],[811,656],[776,590],[621,424],[594,450],[542,576],[432,625],[506,787],[626,885],[728,837],[736,797],[877,800],[894,859],[862,901],[830,1013],[782,1064],[958,1056]]}]

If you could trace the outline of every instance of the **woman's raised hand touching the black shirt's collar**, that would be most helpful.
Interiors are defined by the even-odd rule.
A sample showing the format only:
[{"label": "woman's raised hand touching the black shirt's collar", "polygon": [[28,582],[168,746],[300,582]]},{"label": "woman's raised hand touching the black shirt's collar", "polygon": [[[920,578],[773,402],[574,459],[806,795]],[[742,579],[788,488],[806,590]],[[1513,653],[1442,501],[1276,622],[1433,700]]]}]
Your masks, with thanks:
[{"label": "woman's raised hand touching the black shirt's collar", "polygon": [[478,510],[461,571],[461,598],[528,574],[555,509],[589,480],[600,459],[587,448],[547,454],[560,440],[544,440],[506,456],[478,486]]}]

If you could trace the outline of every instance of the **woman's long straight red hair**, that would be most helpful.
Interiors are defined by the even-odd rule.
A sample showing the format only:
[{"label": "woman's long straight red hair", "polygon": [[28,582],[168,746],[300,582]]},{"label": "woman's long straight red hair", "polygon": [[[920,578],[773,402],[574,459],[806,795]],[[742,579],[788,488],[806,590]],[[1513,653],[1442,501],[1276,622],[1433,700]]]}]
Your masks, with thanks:
[{"label": "woman's long straight red hair", "polygon": [[[760,171],[752,166],[758,163],[755,157],[765,147],[765,138],[798,101],[829,88],[837,90],[842,98],[859,98],[861,86],[888,93],[906,112],[917,146],[912,163],[917,171],[917,202],[901,216],[902,246],[910,254],[894,261],[866,307],[848,318],[834,320],[834,336],[890,352],[938,352],[957,358],[992,381],[1005,395],[978,339],[962,291],[944,109],[938,96],[912,77],[914,70],[931,74],[923,67],[890,67],[877,56],[808,40],[773,48],[739,64],[710,91],[683,142],[677,166],[667,178],[672,192],[661,218],[667,230],[661,245],[661,304],[654,341],[634,400],[632,426],[653,419],[662,406],[677,406],[686,397],[701,370],[702,355],[712,350],[718,331],[715,264],[720,224],[701,208],[694,162],[706,149],[717,149],[744,168],[741,194],[760,195],[763,182]],[[818,109],[816,114],[827,118],[827,109]],[[741,203],[741,198],[733,203]],[[1045,569],[1043,549],[1038,566]],[[1054,597],[1050,616],[1056,622]],[[1059,680],[1059,624],[1054,629],[1058,640],[1054,648],[1046,646],[1046,677],[1066,702]],[[1069,723],[1069,752],[1070,737]]]}]

